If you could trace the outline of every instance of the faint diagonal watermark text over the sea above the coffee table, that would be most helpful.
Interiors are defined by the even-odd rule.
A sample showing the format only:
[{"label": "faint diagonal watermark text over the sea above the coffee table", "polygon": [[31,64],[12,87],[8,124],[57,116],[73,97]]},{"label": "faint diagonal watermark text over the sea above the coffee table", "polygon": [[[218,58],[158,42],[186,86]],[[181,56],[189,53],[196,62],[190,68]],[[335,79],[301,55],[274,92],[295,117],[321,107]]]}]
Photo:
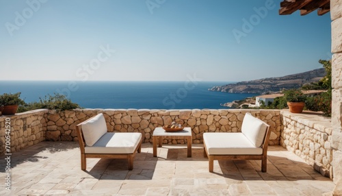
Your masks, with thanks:
[{"label": "faint diagonal watermark text over the sea above the coffee table", "polygon": [[163,106],[170,106],[169,109],[176,108],[176,104],[181,103],[182,99],[187,97],[187,92],[194,90],[200,81],[202,81],[202,79],[196,77],[196,73],[194,73],[194,75],[187,74],[187,81],[185,81],[184,87],[178,88],[176,93],[172,92],[168,97],[165,97],[163,99]]}]

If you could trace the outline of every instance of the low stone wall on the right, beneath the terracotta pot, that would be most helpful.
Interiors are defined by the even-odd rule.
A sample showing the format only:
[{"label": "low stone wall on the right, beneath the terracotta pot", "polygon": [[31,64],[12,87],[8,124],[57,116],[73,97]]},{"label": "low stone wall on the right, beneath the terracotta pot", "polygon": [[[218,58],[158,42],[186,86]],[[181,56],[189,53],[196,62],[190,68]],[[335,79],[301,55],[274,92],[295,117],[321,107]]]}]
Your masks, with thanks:
[{"label": "low stone wall on the right, beneath the terracotta pot", "polygon": [[332,178],[331,120],[317,114],[282,111],[280,145],[293,151],[326,177]]}]

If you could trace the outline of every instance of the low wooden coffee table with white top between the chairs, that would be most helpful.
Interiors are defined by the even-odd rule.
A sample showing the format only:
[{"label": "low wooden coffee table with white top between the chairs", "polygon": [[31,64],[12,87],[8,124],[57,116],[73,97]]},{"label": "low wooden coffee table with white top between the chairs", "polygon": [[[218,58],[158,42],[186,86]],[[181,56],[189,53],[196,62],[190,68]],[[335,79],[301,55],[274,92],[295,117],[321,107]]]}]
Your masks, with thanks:
[{"label": "low wooden coffee table with white top between the chairs", "polygon": [[[163,145],[163,138],[169,137],[174,139],[186,139],[187,140],[187,157],[192,157],[192,129],[185,127],[179,132],[166,132],[162,127],[156,127],[153,131],[153,156],[157,156],[157,142],[158,147]],[[159,140],[159,141],[157,141]]]}]

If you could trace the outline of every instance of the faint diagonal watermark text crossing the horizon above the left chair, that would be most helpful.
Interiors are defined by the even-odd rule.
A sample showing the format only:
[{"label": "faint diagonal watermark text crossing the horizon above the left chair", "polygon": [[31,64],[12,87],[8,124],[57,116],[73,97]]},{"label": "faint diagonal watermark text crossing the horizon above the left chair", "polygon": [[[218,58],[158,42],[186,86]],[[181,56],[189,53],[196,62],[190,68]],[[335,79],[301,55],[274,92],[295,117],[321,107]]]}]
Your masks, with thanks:
[{"label": "faint diagonal watermark text crossing the horizon above the left chair", "polygon": [[[100,51],[98,51],[96,58],[90,60],[88,64],[83,64],[79,69],[76,71],[76,77],[81,79],[81,82],[88,81],[90,75],[94,74],[96,70],[100,69],[103,62],[109,60],[109,58],[116,52],[114,49],[110,49],[109,45],[103,47],[100,46]],[[67,88],[57,88],[56,92],[61,95],[65,95],[66,97],[70,98],[72,92],[75,92],[79,89],[79,85],[76,81],[68,82]]]}]

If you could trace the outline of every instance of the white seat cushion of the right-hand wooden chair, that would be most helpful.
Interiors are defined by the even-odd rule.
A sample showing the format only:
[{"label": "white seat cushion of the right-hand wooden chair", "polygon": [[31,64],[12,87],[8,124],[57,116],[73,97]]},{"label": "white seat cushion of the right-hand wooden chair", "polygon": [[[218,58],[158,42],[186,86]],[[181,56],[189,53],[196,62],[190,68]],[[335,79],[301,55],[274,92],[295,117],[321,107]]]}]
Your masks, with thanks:
[{"label": "white seat cushion of the right-hand wooden chair", "polygon": [[260,155],[261,147],[255,147],[242,133],[204,133],[203,140],[209,155]]}]

